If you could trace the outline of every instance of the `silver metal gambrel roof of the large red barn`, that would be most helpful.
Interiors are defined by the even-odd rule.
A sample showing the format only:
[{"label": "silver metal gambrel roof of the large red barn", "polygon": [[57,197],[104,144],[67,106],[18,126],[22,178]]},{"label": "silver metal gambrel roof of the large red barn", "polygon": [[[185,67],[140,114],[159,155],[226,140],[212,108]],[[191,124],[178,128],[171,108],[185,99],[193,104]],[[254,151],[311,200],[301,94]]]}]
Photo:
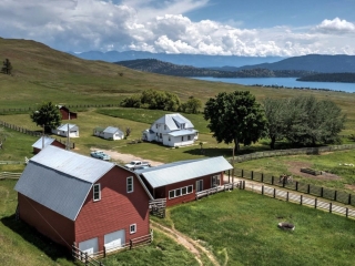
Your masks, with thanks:
[{"label": "silver metal gambrel roof of the large red barn", "polygon": [[75,221],[92,184],[114,166],[49,145],[29,161],[14,190]]}]

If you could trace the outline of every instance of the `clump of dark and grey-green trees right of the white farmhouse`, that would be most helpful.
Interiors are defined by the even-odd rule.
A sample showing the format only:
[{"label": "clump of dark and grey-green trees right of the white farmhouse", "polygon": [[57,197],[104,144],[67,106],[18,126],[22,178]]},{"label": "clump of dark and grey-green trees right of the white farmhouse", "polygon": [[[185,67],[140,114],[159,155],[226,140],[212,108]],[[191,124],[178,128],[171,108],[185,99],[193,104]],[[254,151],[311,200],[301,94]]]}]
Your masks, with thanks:
[{"label": "clump of dark and grey-green trees right of the white farmhouse", "polygon": [[207,127],[217,142],[251,145],[260,139],[270,139],[295,146],[339,143],[345,114],[329,100],[313,95],[290,99],[265,99],[256,102],[248,91],[222,92],[211,98],[204,108]]}]

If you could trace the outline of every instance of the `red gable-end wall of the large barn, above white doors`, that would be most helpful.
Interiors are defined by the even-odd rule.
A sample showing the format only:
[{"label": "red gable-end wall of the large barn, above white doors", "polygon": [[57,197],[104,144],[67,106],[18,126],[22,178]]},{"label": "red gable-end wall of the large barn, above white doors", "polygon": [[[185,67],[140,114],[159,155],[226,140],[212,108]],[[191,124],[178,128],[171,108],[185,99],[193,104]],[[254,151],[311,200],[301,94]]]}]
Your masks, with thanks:
[{"label": "red gable-end wall of the large barn, above white doors", "polygon": [[[125,229],[125,242],[148,235],[149,196],[136,176],[134,192],[126,193],[126,177],[132,173],[119,166],[112,168],[95,184],[101,185],[101,201],[93,202],[90,191],[75,222],[75,242],[99,237],[99,250],[103,249],[104,235]],[[136,233],[130,235],[130,225],[136,224]]]}]

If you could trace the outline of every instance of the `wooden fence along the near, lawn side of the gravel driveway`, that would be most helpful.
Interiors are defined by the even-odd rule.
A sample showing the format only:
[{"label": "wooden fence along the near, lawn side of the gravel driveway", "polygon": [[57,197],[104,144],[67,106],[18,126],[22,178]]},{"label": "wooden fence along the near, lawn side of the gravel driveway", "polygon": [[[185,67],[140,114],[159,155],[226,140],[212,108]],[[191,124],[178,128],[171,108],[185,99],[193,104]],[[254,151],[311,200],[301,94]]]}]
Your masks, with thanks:
[{"label": "wooden fence along the near, lawn side of the gravel driveway", "polygon": [[301,205],[311,206],[311,207],[323,209],[323,211],[326,211],[329,213],[344,215],[345,217],[355,218],[355,209],[344,207],[344,206],[338,206],[332,202],[322,202],[317,197],[307,197],[305,195],[300,195],[300,194],[291,193],[287,191],[277,190],[275,187],[267,187],[264,185],[253,186],[251,184],[245,185],[245,183],[244,183],[244,185],[242,185],[242,187],[244,190],[246,188],[246,190],[252,190],[253,192],[261,193],[262,195],[267,195],[267,196],[283,200],[286,202],[293,202],[293,203],[297,203]]}]

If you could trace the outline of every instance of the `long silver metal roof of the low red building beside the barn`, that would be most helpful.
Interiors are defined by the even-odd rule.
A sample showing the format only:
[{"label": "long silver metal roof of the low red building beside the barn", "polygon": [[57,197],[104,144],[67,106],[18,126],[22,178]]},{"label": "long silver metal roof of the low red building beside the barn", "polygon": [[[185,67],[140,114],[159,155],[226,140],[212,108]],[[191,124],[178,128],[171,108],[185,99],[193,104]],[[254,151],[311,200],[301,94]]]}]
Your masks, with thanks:
[{"label": "long silver metal roof of the low red building beside the barn", "polygon": [[138,170],[136,173],[142,175],[155,188],[231,168],[233,166],[223,156],[219,156],[163,164],[151,168]]}]

